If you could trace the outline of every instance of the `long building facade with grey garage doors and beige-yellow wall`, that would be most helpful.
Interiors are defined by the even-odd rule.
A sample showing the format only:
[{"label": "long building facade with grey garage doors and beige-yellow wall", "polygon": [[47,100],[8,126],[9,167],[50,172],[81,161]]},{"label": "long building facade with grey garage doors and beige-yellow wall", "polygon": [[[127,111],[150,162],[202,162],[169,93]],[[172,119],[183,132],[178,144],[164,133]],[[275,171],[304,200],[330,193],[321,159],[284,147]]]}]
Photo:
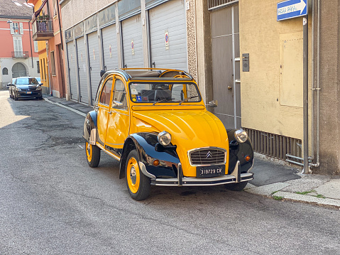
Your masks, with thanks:
[{"label": "long building facade with grey garage doors and beige-yellow wall", "polygon": [[100,70],[187,70],[205,102],[218,99],[212,112],[227,129],[246,129],[258,153],[303,165],[305,138],[312,170],[339,174],[339,1],[291,3],[308,13],[307,102],[302,89],[306,16],[278,21],[278,4],[60,1],[67,94],[92,105]]}]

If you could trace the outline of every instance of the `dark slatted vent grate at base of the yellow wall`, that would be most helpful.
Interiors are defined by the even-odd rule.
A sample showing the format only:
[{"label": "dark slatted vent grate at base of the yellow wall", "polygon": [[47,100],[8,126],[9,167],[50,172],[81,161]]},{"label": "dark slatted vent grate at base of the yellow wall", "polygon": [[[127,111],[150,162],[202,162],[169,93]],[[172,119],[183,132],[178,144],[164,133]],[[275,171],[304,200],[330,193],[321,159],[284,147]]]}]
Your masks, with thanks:
[{"label": "dark slatted vent grate at base of the yellow wall", "polygon": [[[288,136],[280,136],[268,132],[244,128],[248,132],[249,139],[253,144],[253,149],[257,153],[273,158],[287,159],[287,154],[302,158],[302,141]],[[297,163],[301,163],[297,160]]]}]

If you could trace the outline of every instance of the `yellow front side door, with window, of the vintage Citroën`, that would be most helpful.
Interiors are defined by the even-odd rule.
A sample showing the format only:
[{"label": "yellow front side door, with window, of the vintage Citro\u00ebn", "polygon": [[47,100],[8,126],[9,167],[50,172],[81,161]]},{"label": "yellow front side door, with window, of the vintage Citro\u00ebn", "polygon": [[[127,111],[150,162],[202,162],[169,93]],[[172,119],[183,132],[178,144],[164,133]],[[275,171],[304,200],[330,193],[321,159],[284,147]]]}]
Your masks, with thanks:
[{"label": "yellow front side door, with window, of the vintage Citro\u00ebn", "polygon": [[119,76],[114,78],[112,94],[105,147],[110,151],[119,153],[119,150],[124,146],[130,126],[126,84]]}]

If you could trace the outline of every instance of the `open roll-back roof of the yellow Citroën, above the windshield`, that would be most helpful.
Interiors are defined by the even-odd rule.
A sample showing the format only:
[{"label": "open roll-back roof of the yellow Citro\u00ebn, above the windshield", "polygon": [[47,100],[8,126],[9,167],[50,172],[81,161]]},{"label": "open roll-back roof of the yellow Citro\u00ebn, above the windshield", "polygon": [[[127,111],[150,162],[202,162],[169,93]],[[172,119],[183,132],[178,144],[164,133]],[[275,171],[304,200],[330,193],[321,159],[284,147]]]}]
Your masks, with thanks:
[{"label": "open roll-back roof of the yellow Citro\u00ebn, above the windshield", "polygon": [[[111,74],[120,74],[126,81],[128,80],[193,80],[192,75],[183,70],[175,69],[158,69],[158,68],[123,68],[106,71],[103,75],[104,79],[106,76]],[[186,76],[186,77],[176,77]]]}]

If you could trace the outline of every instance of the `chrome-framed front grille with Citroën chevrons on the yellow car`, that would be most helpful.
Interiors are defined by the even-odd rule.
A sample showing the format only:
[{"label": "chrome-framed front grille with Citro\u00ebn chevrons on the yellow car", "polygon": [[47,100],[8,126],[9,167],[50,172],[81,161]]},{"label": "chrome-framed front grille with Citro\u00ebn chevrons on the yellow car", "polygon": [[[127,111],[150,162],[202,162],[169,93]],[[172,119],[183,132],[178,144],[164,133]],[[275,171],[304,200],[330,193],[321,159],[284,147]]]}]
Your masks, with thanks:
[{"label": "chrome-framed front grille with Citro\u00ebn chevrons on the yellow car", "polygon": [[189,161],[192,166],[217,165],[226,163],[224,148],[197,148],[189,151]]}]

